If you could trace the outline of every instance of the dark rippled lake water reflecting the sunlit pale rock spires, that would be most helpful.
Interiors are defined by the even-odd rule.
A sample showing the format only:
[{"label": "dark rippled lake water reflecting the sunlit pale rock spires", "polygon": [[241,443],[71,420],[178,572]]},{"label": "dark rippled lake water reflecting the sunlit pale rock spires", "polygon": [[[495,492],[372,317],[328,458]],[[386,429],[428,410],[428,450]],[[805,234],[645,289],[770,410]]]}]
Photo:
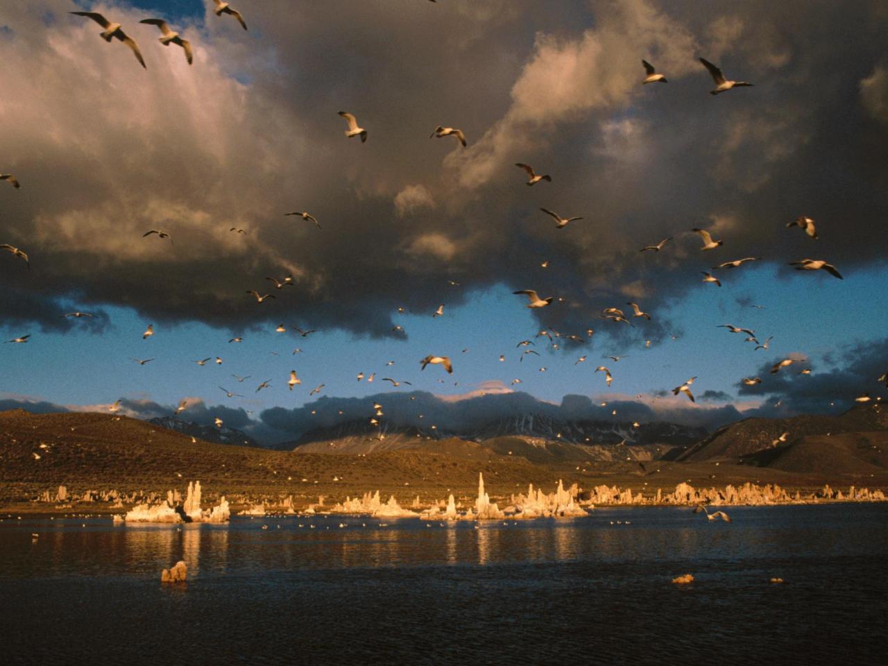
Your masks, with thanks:
[{"label": "dark rippled lake water reflecting the sunlit pale rock spires", "polygon": [[0,663],[888,663],[888,505],[729,512],[4,518]]}]

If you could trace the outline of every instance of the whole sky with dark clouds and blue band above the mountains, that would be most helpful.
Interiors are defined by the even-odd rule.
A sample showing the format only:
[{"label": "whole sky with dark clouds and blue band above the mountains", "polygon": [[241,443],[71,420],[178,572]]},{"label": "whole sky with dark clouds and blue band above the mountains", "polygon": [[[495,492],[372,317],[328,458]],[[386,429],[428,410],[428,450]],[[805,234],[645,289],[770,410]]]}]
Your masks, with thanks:
[{"label": "whole sky with dark clouds and blue band above the mountains", "polygon": [[[0,344],[0,407],[123,399],[145,417],[188,399],[184,417],[223,415],[273,441],[321,405],[335,421],[390,391],[428,394],[441,414],[481,397],[493,414],[583,396],[584,416],[613,416],[607,401],[707,427],[884,394],[883,3],[234,7],[248,30],[192,0],[0,7],[0,173],[21,183],[0,181],[0,244],[30,266],[0,252],[0,336],[30,335]],[[147,68],[78,10],[121,23]],[[153,17],[193,44],[192,66],[139,24]],[[754,87],[710,95],[701,56]],[[642,85],[643,58],[669,83]],[[366,143],[345,137],[341,110]],[[430,139],[439,124],[468,147]],[[551,182],[526,186],[515,163]],[[583,219],[557,229],[540,208]],[[321,228],[284,217],[294,210]],[[786,226],[803,215],[818,239]],[[724,244],[700,250],[693,227]],[[787,265],[802,258],[844,279]],[[283,289],[266,280],[287,275]],[[531,311],[518,289],[555,300]],[[599,316],[630,301],[651,321]],[[96,316],[62,316],[78,310]],[[755,350],[722,324],[772,339]],[[579,340],[556,337],[556,350],[541,329]],[[420,370],[428,354],[448,355],[453,375]],[[799,361],[772,375],[784,358]],[[672,396],[694,376],[696,403]]]}]

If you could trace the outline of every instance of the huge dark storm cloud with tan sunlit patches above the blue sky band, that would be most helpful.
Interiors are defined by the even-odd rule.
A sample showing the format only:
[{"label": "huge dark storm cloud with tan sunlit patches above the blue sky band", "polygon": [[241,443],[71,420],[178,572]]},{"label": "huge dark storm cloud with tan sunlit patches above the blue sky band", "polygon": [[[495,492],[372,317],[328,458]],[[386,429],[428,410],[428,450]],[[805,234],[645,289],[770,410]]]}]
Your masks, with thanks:
[{"label": "huge dark storm cloud with tan sunlit patches above the blue sky band", "polygon": [[[0,315],[58,328],[63,298],[386,336],[399,305],[427,312],[502,283],[565,299],[541,325],[619,347],[675,332],[661,311],[729,258],[826,258],[852,289],[888,250],[871,226],[888,212],[886,16],[838,5],[270,0],[250,7],[249,33],[209,9],[181,19],[189,68],[139,26],[144,12],[94,4],[131,28],[147,71],[67,6],[4,6],[0,83],[17,101],[0,107],[15,128],[0,166],[22,188],[0,187],[0,242],[33,269],[0,256]],[[698,55],[756,87],[710,97]],[[642,88],[642,57],[670,83]],[[339,110],[366,144],[345,139]],[[470,147],[429,139],[439,123]],[[553,182],[524,186],[515,162]],[[584,219],[556,230],[541,206]],[[821,240],[785,228],[803,214]],[[702,254],[692,226],[724,247]],[[297,286],[274,300],[244,293],[286,274]],[[598,318],[627,301],[654,321]]]}]

